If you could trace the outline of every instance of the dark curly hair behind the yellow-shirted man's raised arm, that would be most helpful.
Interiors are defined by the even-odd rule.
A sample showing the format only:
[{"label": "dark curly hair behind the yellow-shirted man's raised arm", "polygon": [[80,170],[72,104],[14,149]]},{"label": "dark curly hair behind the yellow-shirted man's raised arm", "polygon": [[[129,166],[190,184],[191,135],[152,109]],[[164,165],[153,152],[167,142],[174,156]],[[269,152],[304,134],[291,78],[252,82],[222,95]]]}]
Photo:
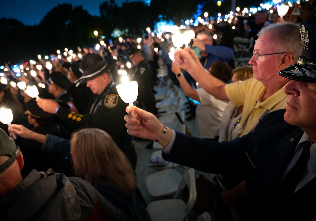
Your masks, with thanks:
[{"label": "dark curly hair behind the yellow-shirted man's raised arm", "polygon": [[224,61],[213,61],[210,65],[210,74],[227,83],[233,76],[232,68]]}]

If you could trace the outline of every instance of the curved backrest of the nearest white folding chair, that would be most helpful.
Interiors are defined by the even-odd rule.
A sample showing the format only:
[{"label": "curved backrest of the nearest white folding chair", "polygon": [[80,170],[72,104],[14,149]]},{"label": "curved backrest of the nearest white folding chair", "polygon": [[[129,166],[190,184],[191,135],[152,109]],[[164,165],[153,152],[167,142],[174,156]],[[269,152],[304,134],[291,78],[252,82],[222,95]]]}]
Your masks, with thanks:
[{"label": "curved backrest of the nearest white folding chair", "polygon": [[193,168],[187,168],[183,175],[182,175],[182,181],[179,185],[179,188],[174,196],[176,198],[180,191],[185,188],[185,186],[188,186],[189,189],[189,199],[186,203],[184,211],[186,212],[185,217],[183,220],[186,220],[186,218],[189,216],[189,213],[193,209],[193,206],[195,204],[196,198],[197,198],[197,189],[195,185],[195,171]]}]

